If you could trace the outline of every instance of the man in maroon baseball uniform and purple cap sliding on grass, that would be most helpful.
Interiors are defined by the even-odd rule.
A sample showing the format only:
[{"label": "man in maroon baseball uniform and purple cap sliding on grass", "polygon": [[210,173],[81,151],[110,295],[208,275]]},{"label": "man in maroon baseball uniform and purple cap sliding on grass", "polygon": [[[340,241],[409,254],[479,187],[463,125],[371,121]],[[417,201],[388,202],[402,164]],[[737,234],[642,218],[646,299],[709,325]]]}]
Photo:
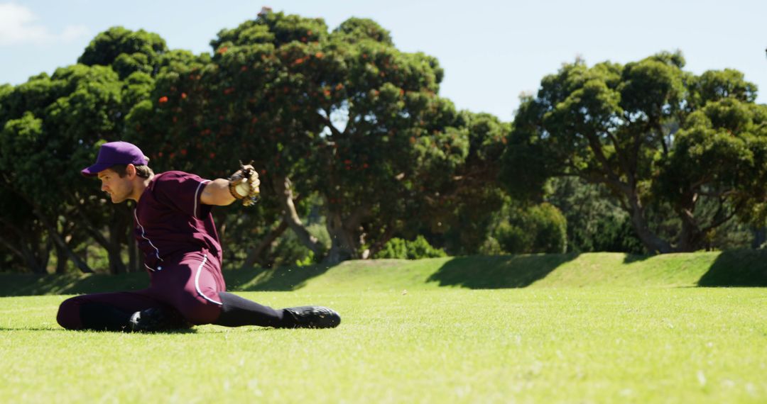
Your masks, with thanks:
[{"label": "man in maroon baseball uniform and purple cap sliding on grass", "polygon": [[222,252],[212,206],[258,196],[258,174],[243,166],[228,180],[210,181],[182,171],[154,174],[135,145],[101,146],[96,164],[82,172],[98,176],[112,203],[135,200],[134,233],[145,256],[150,287],[135,292],[69,298],[58,309],[58,324],[70,330],[163,331],[193,324],[225,327],[336,327],[341,317],[329,308],[274,309],[225,292]]}]

